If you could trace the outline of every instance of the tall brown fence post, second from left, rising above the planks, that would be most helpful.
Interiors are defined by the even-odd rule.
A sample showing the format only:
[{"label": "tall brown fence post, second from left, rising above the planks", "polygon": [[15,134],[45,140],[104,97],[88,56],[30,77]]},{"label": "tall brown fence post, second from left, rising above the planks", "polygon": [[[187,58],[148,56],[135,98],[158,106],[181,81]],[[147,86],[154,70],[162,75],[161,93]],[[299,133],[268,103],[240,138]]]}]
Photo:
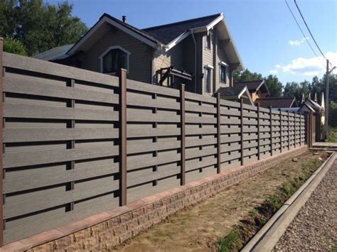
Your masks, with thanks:
[{"label": "tall brown fence post, second from left, rising above the planks", "polygon": [[127,70],[119,72],[119,205],[127,204]]}]

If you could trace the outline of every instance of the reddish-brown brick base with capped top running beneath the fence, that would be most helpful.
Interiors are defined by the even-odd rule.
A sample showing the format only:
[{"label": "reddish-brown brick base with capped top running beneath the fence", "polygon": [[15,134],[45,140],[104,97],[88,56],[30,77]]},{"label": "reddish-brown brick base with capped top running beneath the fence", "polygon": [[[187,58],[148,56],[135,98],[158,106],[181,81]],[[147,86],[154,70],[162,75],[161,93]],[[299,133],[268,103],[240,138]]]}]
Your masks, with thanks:
[{"label": "reddish-brown brick base with capped top running beneath the fence", "polygon": [[0,251],[109,250],[184,207],[213,195],[308,150],[302,146],[219,174],[139,199],[57,229],[6,244]]}]

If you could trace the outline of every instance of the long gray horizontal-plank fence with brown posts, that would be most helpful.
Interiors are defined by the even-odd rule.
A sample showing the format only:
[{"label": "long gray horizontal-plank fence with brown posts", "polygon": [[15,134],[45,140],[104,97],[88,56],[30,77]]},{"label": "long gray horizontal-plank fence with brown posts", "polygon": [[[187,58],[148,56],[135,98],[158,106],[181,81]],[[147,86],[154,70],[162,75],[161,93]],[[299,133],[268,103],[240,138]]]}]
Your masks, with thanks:
[{"label": "long gray horizontal-plank fence with brown posts", "polygon": [[4,243],[306,144],[299,114],[1,55]]}]

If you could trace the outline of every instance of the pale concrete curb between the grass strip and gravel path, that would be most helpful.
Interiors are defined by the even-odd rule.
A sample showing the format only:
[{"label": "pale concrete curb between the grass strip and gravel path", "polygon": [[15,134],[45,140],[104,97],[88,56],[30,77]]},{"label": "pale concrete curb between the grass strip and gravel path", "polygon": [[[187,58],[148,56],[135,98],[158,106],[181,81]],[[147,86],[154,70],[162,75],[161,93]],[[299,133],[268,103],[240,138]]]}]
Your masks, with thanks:
[{"label": "pale concrete curb between the grass strip and gravel path", "polygon": [[241,251],[272,251],[277,241],[287,230],[291,221],[299,213],[301,207],[308,201],[312,192],[319,185],[326,172],[333,165],[337,153],[333,153],[311,177],[292,195],[287,202],[264,224],[262,229],[246,244]]}]

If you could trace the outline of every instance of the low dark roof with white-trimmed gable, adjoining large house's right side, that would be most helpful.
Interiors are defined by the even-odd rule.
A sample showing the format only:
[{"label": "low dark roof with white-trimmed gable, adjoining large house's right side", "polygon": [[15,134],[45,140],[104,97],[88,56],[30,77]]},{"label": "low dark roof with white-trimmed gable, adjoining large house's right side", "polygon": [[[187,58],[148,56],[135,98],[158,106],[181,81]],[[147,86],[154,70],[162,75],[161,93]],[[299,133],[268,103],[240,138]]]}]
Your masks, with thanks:
[{"label": "low dark roof with white-trimmed gable, adjoining large house's right side", "polygon": [[239,85],[234,85],[234,87],[220,87],[218,93],[220,94],[221,99],[230,100],[232,102],[240,102],[240,99],[243,99],[245,104],[254,106],[254,102],[252,101],[247,86],[243,88]]}]

